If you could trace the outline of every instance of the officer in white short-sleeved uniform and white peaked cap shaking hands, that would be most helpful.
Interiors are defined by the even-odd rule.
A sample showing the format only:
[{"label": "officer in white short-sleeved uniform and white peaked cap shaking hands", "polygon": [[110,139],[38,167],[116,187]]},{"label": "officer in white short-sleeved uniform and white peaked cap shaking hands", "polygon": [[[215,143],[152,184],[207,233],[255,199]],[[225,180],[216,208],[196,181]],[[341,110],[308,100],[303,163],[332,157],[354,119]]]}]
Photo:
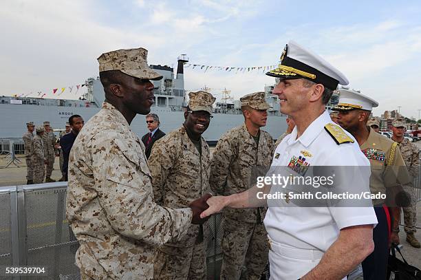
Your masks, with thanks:
[{"label": "officer in white short-sleeved uniform and white peaked cap shaking hands", "polygon": [[[347,78],[320,56],[290,41],[277,69],[267,73],[280,78],[274,88],[281,112],[296,127],[277,147],[272,168],[290,166],[292,173],[308,166],[361,166],[365,172],[345,174],[349,191],[355,186],[369,193],[369,162],[347,131],[332,122],[325,105],[338,84]],[[285,167],[284,167],[285,169]],[[269,171],[270,175],[272,171]],[[272,190],[271,190],[272,189]],[[374,250],[373,227],[377,224],[367,207],[288,207],[293,202],[257,200],[257,193],[273,193],[273,185],[251,188],[227,197],[211,197],[206,217],[228,206],[249,208],[268,204],[264,220],[270,246],[271,279],[346,279]],[[271,207],[271,204],[277,204]]]}]

